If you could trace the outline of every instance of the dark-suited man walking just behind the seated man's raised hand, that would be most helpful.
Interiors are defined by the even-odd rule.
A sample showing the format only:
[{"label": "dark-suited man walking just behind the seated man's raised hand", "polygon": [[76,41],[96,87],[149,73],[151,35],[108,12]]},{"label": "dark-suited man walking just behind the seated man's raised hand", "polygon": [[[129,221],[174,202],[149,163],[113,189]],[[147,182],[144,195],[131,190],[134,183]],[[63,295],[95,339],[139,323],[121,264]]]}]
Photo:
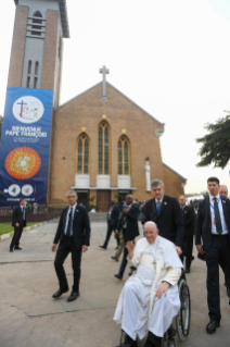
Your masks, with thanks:
[{"label": "dark-suited man walking just behind the seated man's raised hand", "polygon": [[[128,241],[135,240],[135,238],[139,235],[138,227],[138,218],[139,218],[139,206],[137,203],[132,203],[133,198],[131,195],[126,196],[126,207],[123,209],[123,214],[118,220],[118,224],[116,230],[119,231],[123,228],[123,235],[125,238],[125,246]],[[124,272],[127,265],[127,256],[128,250],[124,247],[123,261],[119,268],[119,272],[114,276],[118,280],[123,278]]]}]

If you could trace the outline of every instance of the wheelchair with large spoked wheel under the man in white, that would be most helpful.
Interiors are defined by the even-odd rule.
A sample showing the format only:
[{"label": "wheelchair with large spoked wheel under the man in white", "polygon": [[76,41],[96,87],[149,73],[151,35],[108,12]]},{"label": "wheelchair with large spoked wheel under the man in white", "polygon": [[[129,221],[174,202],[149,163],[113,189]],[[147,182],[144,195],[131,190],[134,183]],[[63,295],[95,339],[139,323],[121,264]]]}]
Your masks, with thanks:
[{"label": "wheelchair with large spoked wheel under the man in white", "polygon": [[[162,347],[177,347],[176,336],[180,342],[184,342],[189,335],[191,318],[190,290],[186,281],[186,274],[182,272],[178,282],[178,292],[180,297],[180,310],[176,315],[173,324],[162,338]],[[175,326],[176,325],[176,326]],[[119,346],[125,343],[126,334],[122,331]]]}]

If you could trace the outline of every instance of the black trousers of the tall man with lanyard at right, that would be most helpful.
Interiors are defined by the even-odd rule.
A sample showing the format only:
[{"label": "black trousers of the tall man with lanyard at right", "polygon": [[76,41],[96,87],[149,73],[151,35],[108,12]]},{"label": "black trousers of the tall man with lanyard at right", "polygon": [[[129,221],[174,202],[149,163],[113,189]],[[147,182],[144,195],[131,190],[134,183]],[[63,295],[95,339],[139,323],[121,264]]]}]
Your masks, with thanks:
[{"label": "black trousers of the tall man with lanyard at right", "polygon": [[[230,271],[230,239],[229,235],[212,235],[210,247],[206,251],[207,265],[207,306],[210,320],[219,321],[220,313],[220,297],[219,297],[219,259],[221,258],[225,264],[225,273],[229,282]],[[230,286],[230,283],[227,283]]]}]

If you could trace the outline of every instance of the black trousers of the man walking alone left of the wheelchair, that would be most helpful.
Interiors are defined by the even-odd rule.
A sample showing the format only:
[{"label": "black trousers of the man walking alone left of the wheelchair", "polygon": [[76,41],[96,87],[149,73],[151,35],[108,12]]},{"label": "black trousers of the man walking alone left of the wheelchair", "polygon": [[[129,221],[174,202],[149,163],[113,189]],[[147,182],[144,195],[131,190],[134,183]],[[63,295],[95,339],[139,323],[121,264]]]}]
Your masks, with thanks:
[{"label": "black trousers of the man walking alone left of the wheelchair", "polygon": [[74,237],[64,237],[62,243],[59,245],[56,257],[54,260],[54,268],[59,278],[60,289],[67,290],[68,283],[64,270],[64,261],[67,256],[72,253],[72,267],[74,271],[74,285],[73,290],[79,292],[80,282],[80,264],[81,264],[81,249],[77,249],[74,243]]}]

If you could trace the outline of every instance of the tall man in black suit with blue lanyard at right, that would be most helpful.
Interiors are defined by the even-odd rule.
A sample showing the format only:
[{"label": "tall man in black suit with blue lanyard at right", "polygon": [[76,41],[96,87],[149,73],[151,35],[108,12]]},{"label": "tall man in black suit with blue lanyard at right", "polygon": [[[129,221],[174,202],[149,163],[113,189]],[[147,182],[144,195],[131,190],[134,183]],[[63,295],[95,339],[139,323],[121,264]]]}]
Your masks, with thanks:
[{"label": "tall man in black suit with blue lanyard at right", "polygon": [[[209,196],[199,205],[195,224],[195,245],[200,253],[206,253],[207,264],[207,305],[209,323],[207,333],[215,333],[220,325],[219,297],[219,259],[225,267],[225,274],[230,287],[230,200],[220,197],[219,179],[207,179]],[[202,245],[203,240],[203,245]]]}]

